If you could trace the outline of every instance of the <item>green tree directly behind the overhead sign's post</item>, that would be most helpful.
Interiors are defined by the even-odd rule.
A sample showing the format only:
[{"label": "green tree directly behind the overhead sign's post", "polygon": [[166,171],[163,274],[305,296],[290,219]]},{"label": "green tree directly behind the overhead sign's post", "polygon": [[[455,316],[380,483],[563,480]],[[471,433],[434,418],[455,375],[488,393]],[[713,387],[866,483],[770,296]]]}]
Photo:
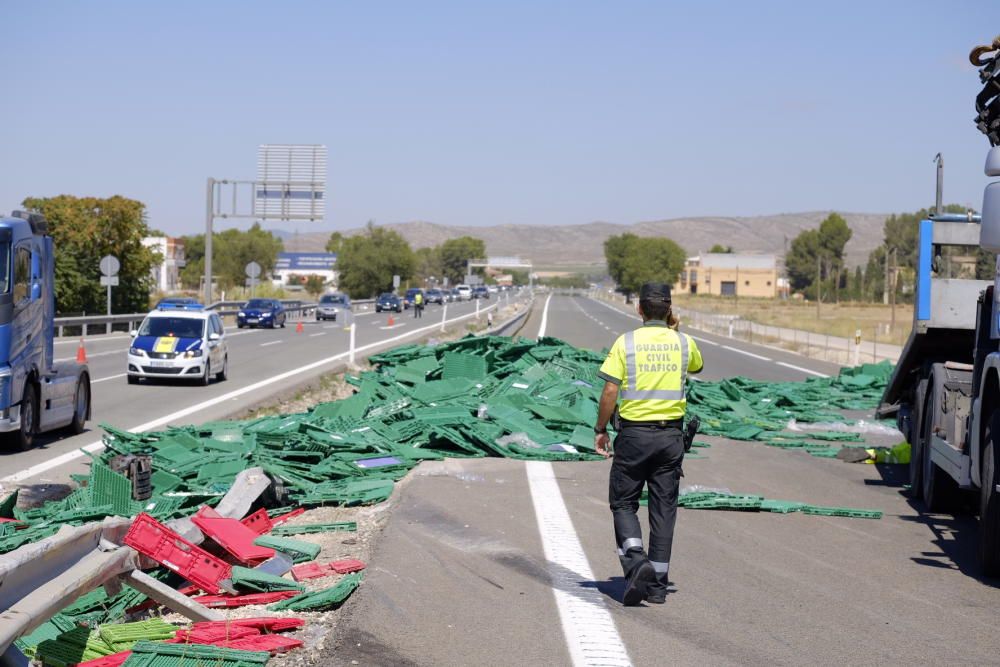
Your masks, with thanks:
[{"label": "green tree directly behind the overhead sign's post", "polygon": [[[274,270],[281,239],[254,223],[250,229],[227,229],[212,234],[212,273],[219,287],[232,289],[246,282],[246,265],[260,264],[262,275]],[[205,275],[205,235],[184,238],[186,263],[181,270],[181,282],[188,289],[198,289]]]}]

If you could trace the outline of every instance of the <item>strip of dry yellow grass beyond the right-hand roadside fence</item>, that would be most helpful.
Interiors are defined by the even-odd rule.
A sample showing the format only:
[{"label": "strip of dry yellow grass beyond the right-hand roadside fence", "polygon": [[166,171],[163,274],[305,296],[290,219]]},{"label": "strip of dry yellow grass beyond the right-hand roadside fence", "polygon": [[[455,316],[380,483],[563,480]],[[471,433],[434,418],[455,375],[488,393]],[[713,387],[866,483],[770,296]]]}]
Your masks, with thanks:
[{"label": "strip of dry yellow grass beyond the right-hand roadside fence", "polygon": [[736,314],[743,319],[789,329],[811,331],[831,336],[852,338],[861,329],[865,339],[871,339],[878,328],[878,340],[902,345],[910,335],[913,306],[896,306],[896,323],[890,330],[890,306],[869,303],[824,303],[816,316],[816,303],[781,301],[777,299],[739,299],[677,294],[674,303],[706,313]]}]

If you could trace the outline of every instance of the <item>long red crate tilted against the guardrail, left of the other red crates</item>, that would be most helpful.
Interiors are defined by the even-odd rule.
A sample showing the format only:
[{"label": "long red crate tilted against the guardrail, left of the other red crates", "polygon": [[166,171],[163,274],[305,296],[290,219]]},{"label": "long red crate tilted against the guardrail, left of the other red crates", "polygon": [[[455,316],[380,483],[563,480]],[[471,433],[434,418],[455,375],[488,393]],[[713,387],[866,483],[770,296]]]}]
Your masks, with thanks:
[{"label": "long red crate tilted against the guardrail, left of the other red crates", "polygon": [[125,544],[209,593],[222,592],[219,582],[233,574],[228,563],[191,544],[145,512],[132,522]]}]

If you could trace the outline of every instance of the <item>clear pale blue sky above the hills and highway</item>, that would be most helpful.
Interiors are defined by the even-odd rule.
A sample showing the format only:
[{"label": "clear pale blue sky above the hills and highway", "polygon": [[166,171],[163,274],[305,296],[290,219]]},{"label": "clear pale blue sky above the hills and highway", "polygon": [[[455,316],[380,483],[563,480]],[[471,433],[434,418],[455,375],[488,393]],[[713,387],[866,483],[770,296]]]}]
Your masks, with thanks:
[{"label": "clear pale blue sky above the hills and highway", "polygon": [[300,231],[912,210],[938,151],[947,201],[986,180],[992,1],[0,3],[0,210],[122,194],[197,232],[261,143],[329,148]]}]

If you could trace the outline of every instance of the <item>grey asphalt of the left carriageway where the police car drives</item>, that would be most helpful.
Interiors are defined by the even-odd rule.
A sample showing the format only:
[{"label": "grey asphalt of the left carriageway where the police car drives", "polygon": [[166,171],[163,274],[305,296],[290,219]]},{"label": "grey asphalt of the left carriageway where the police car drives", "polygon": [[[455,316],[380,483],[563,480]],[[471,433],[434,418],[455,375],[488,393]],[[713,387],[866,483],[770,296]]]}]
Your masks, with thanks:
[{"label": "grey asphalt of the left carriageway where the police car drives", "polygon": [[[516,297],[512,295],[511,300]],[[495,296],[481,304],[486,308],[505,305],[506,296]],[[462,328],[474,316],[475,302],[448,304],[449,326]],[[428,305],[421,319],[413,311],[376,314],[355,310],[355,345],[360,360],[364,354],[434,336],[443,310]],[[180,381],[143,382],[129,385],[125,377],[126,353],[130,338],[124,334],[94,337],[86,341],[87,361],[93,392],[93,419],[88,430],[78,436],[45,434],[28,452],[0,448],[0,486],[14,484],[62,483],[71,473],[85,472],[88,459],[80,450],[101,448],[106,423],[124,430],[147,431],[169,425],[202,423],[224,419],[254,405],[267,402],[296,386],[315,379],[347,361],[350,334],[344,322],[303,321],[303,331],[289,321],[284,329],[237,329],[228,327],[229,379],[215,380],[207,387]],[[420,329],[427,329],[418,332]],[[76,357],[78,339],[56,343],[57,360]]]}]

